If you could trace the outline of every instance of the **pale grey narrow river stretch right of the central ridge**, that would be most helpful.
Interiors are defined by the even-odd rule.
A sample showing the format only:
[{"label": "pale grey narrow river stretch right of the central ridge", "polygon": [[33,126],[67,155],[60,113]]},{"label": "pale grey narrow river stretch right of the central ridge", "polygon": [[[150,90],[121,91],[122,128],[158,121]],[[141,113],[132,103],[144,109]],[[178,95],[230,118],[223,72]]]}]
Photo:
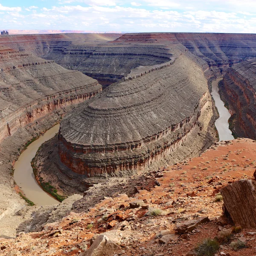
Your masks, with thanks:
[{"label": "pale grey narrow river stretch right of the central ridge", "polygon": [[222,78],[212,81],[212,97],[215,101],[216,108],[218,109],[220,117],[215,121],[215,126],[219,134],[219,140],[233,140],[234,137],[229,129],[228,119],[230,118],[230,113],[224,106],[224,102],[218,93],[218,82]]}]

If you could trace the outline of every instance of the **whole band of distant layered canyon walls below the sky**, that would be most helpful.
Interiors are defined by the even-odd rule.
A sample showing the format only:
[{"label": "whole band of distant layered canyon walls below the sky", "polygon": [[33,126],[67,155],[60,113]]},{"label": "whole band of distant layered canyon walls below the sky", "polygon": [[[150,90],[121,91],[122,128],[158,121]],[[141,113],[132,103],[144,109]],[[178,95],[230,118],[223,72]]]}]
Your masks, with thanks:
[{"label": "whole band of distant layered canyon walls below the sky", "polygon": [[11,35],[1,44],[26,49],[78,70],[103,86],[119,81],[133,68],[167,62],[177,50],[189,50],[220,75],[246,58],[256,57],[255,34],[136,33]]}]

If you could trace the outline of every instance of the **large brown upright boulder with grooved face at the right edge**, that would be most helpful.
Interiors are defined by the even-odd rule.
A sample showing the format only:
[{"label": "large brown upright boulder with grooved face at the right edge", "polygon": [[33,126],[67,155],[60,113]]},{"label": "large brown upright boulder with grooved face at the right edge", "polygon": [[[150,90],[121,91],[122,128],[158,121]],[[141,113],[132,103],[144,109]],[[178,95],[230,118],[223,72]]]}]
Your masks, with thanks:
[{"label": "large brown upright boulder with grooved face at the right edge", "polygon": [[224,214],[236,226],[256,228],[256,181],[238,180],[221,189]]}]

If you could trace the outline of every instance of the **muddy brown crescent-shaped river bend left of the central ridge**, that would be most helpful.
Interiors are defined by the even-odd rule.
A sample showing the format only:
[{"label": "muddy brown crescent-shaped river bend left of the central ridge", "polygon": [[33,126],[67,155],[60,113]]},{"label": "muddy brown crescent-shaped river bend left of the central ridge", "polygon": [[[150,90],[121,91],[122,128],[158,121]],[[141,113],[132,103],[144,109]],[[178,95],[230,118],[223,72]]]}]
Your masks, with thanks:
[{"label": "muddy brown crescent-shaped river bend left of the central ridge", "polygon": [[14,166],[14,180],[21,188],[24,195],[33,203],[41,205],[59,204],[60,202],[49,195],[38,185],[33,174],[31,161],[35,157],[38,148],[47,140],[51,139],[58,133],[60,125],[55,125],[49,129],[44,135],[32,142],[26,150],[24,150]]}]

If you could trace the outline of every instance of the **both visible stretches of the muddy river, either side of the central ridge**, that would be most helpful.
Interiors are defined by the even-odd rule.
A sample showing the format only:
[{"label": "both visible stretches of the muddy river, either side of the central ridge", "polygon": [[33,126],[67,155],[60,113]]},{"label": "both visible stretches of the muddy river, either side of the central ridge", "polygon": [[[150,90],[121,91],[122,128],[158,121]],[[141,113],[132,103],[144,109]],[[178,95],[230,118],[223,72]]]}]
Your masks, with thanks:
[{"label": "both visible stretches of the muddy river, either side of the central ridge", "polygon": [[[218,93],[218,82],[221,79],[216,79],[212,81],[212,97],[215,101],[215,106],[219,112],[219,118],[215,122],[217,128],[219,139],[221,140],[233,140],[234,137],[229,129],[228,119],[230,118],[230,113],[227,108],[224,107],[224,102],[221,100]],[[33,169],[31,166],[31,161],[35,157],[38,148],[47,140],[50,140],[55,134],[58,133],[59,124],[53,126],[44,135],[40,136],[37,140],[32,142],[25,151],[20,154],[19,159],[16,161],[14,166],[14,179],[17,185],[22,189],[24,195],[29,198],[30,201],[35,204],[50,205],[59,204],[59,201],[52,198],[47,192],[38,185],[37,180],[33,174]]]}]

